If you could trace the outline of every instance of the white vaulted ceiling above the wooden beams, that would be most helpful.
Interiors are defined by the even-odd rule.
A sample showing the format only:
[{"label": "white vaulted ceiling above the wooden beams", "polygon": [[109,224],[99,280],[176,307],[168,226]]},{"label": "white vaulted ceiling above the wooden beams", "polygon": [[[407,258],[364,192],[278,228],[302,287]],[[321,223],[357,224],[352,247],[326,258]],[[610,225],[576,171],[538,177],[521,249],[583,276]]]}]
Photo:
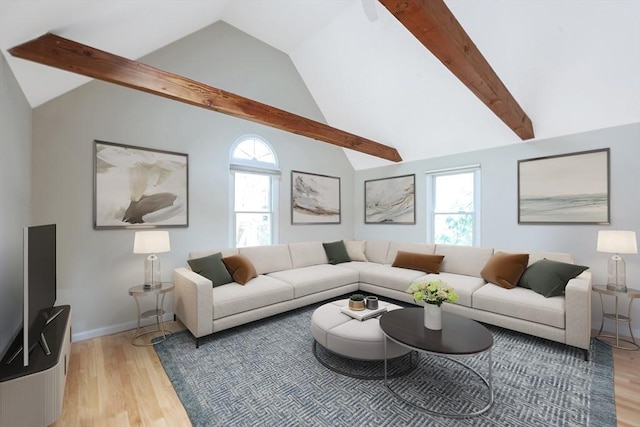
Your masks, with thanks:
[{"label": "white vaulted ceiling above the wooden beams", "polygon": [[[52,32],[137,59],[224,20],[286,52],[330,126],[404,161],[640,122],[640,1],[445,2],[536,139],[523,142],[374,0],[2,0],[0,49],[37,107],[90,79],[14,58],[13,46]],[[345,151],[355,169],[389,163]]]}]

